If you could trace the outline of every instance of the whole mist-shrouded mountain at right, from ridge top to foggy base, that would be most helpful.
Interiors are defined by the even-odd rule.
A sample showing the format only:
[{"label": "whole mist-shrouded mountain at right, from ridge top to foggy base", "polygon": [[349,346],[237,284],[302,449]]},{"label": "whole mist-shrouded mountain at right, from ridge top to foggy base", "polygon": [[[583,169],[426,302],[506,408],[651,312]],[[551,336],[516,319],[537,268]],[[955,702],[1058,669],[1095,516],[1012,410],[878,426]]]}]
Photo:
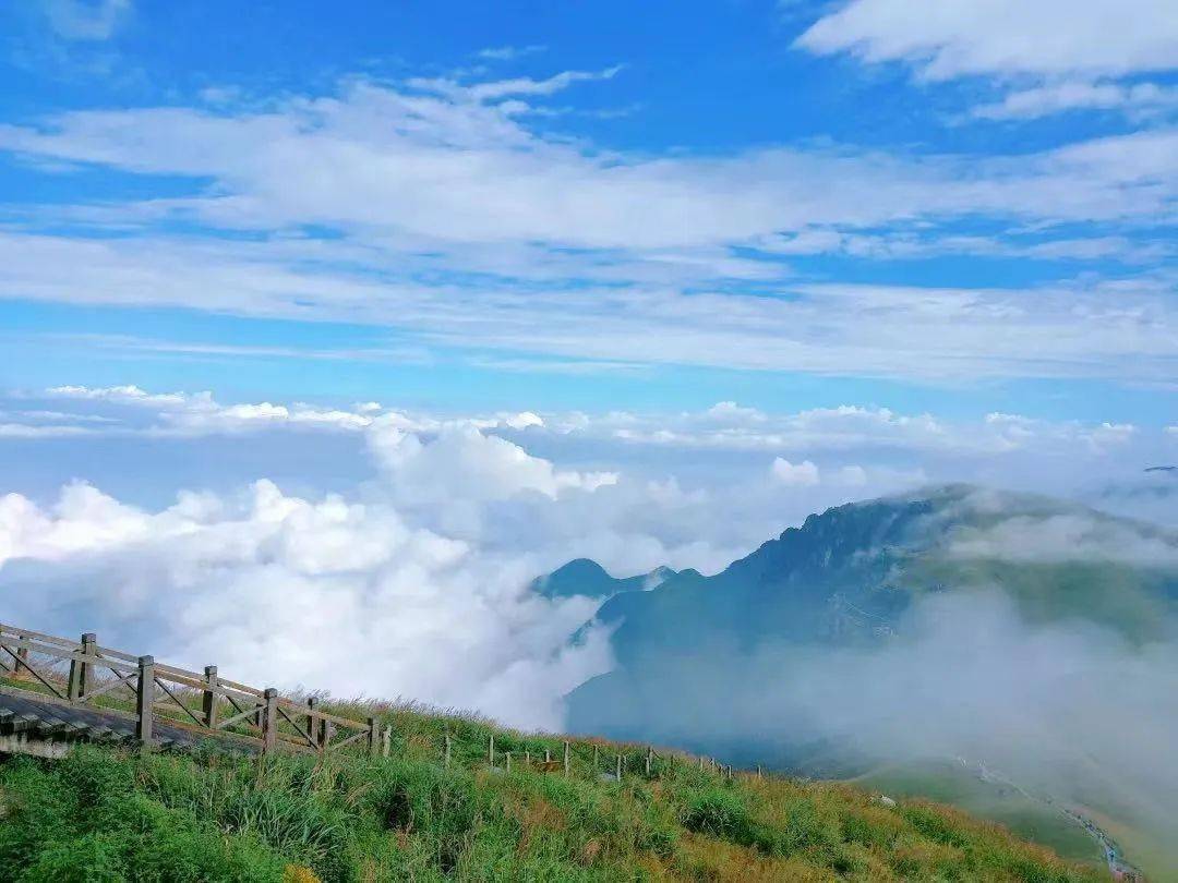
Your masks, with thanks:
[{"label": "whole mist-shrouded mountain at right, from ridge top to foggy base", "polygon": [[823,776],[978,763],[1154,842],[1178,814],[1170,529],[952,485],[621,585],[595,618],[616,665],[568,696],[574,731]]}]

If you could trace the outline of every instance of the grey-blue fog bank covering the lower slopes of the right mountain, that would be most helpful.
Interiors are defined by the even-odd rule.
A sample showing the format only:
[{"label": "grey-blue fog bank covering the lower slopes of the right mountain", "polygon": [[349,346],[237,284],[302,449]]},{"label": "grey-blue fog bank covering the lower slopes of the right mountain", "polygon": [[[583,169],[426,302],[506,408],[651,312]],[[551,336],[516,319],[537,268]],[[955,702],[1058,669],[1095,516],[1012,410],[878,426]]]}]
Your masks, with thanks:
[{"label": "grey-blue fog bank covering the lower slopes of the right mountain", "polygon": [[[1031,624],[1000,589],[915,604],[873,646],[704,648],[623,676],[610,729],[818,776],[961,761],[1158,839],[1178,817],[1178,642]],[[684,702],[684,697],[690,697]]]}]

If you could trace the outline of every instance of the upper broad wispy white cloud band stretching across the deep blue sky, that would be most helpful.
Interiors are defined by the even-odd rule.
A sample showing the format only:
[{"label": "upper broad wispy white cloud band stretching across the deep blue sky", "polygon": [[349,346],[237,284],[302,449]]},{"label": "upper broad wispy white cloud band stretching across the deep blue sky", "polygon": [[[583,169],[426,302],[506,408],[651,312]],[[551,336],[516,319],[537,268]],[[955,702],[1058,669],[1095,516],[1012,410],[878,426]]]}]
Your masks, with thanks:
[{"label": "upper broad wispy white cloud band stretching across the deep blue sky", "polygon": [[[535,89],[528,84],[567,81],[558,74],[516,82]],[[508,88],[482,85],[481,94]],[[822,223],[974,212],[1090,219],[1164,207],[1143,201],[1140,192],[1123,192],[1127,179],[1139,177],[1131,162],[1110,177],[1111,170],[1088,165],[1083,154],[1053,151],[999,159],[846,147],[777,147],[715,159],[626,155],[532,131],[510,108],[464,97],[478,87],[422,95],[359,82],[265,112],[79,111],[38,127],[0,127],[0,147],[218,184],[187,198],[123,206],[125,221],[194,215],[230,227],[342,225],[385,244],[426,237],[435,244],[633,252],[740,243]],[[1152,137],[1173,140],[1172,133]],[[1136,139],[1114,144],[1130,151]],[[323,168],[332,170],[330,180]],[[1057,193],[1060,185],[1067,199]],[[866,191],[871,200],[861,198]],[[1055,198],[1045,199],[1048,193]],[[409,251],[415,243],[405,245]]]}]

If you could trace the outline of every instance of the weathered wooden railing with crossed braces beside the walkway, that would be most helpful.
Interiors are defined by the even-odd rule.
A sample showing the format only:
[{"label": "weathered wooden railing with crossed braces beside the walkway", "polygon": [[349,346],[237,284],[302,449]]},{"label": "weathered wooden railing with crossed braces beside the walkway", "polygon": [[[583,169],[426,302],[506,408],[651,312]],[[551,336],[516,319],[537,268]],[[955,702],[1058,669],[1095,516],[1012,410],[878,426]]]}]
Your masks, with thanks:
[{"label": "weathered wooden railing with crossed braces beside the walkway", "polygon": [[318,699],[296,702],[274,688],[259,690],[223,678],[216,665],[204,672],[157,663],[100,646],[92,632],[74,642],[0,624],[0,659],[16,678],[35,682],[53,699],[98,709],[131,705],[135,738],[152,744],[157,723],[207,735],[232,735],[256,743],[263,752],[292,748],[325,753],[364,743],[371,753],[388,753],[389,733],[379,722],[331,715]]}]

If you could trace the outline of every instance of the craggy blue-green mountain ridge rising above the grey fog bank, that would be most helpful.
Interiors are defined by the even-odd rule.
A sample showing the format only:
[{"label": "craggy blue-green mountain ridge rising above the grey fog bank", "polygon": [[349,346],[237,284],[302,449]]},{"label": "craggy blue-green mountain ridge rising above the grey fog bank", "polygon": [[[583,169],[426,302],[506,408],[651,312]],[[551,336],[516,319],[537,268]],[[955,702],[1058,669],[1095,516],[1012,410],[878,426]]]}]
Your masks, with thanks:
[{"label": "craggy blue-green mountain ridge rising above the grey fog bank", "polygon": [[587,560],[548,580],[569,569],[598,575],[593,595],[608,599],[597,619],[615,626],[623,669],[684,646],[873,644],[919,599],[981,586],[1001,586],[1031,622],[1083,617],[1133,642],[1163,637],[1178,609],[1172,531],[971,485],[829,509],[721,573],[669,572],[650,591]]}]

